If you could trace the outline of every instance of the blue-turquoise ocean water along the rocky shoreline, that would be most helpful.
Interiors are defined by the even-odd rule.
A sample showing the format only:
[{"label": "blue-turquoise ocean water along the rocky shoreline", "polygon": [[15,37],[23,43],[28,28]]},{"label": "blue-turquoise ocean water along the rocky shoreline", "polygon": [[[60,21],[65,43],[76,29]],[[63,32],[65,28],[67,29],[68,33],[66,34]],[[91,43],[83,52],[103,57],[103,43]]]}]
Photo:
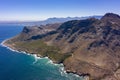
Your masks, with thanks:
[{"label": "blue-turquoise ocean water along the rocky shoreline", "polygon": [[[23,26],[0,25],[0,43],[21,32]],[[53,64],[48,58],[11,51],[0,45],[0,80],[83,80],[67,74],[63,65]]]}]

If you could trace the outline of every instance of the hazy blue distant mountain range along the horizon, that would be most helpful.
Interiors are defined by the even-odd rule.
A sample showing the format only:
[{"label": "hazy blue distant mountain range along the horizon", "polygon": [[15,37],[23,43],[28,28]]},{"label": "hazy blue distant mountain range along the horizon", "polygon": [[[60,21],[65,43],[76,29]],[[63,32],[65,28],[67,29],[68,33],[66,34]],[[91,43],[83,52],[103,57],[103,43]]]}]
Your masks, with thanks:
[{"label": "hazy blue distant mountain range along the horizon", "polygon": [[63,23],[70,20],[83,20],[87,18],[97,18],[100,19],[102,16],[86,16],[86,17],[66,17],[66,18],[48,18],[43,21],[0,21],[0,24],[18,24],[18,25],[25,25],[25,26],[33,26],[33,25],[45,25],[45,24],[52,24],[52,23]]}]

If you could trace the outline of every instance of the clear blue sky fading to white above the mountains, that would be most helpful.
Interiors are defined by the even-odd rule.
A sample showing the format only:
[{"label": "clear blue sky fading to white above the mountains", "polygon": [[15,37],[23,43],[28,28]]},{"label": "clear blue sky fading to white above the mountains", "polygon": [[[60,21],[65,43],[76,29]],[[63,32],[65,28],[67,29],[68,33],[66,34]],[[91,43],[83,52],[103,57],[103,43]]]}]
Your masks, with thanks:
[{"label": "clear blue sky fading to white above the mountains", "polygon": [[120,14],[120,0],[0,0],[0,21]]}]

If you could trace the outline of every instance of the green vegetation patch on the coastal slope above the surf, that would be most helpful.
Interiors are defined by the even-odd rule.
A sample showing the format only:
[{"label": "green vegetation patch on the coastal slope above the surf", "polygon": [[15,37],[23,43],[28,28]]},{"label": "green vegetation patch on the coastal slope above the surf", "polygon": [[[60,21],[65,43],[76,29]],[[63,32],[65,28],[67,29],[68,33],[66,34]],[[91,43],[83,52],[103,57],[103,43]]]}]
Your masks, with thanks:
[{"label": "green vegetation patch on the coastal slope above the surf", "polygon": [[15,42],[15,47],[18,50],[26,51],[32,54],[39,54],[42,57],[49,57],[56,63],[62,63],[70,54],[62,54],[56,46],[48,46],[42,40],[20,41]]}]

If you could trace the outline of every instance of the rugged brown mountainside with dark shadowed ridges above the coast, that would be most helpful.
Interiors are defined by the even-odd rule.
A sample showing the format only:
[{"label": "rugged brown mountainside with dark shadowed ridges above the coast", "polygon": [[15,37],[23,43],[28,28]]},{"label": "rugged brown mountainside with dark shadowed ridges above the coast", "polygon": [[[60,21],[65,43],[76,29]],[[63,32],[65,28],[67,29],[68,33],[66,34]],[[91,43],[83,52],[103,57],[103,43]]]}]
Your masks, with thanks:
[{"label": "rugged brown mountainside with dark shadowed ridges above the coast", "polygon": [[[60,59],[67,72],[87,75],[92,80],[120,80],[119,15],[107,13],[100,20],[90,18],[68,21],[52,32],[43,33],[42,37],[40,36],[43,34],[39,34],[38,29],[35,29],[35,32],[34,30],[29,32],[29,30],[24,28],[21,33],[22,37],[24,37],[23,33],[30,35],[30,37],[23,38],[24,42],[41,40],[47,46],[58,48],[57,53],[62,55]],[[35,35],[31,35],[32,32]],[[24,44],[22,46],[15,44],[18,40],[23,42],[20,41],[20,35],[6,43],[14,43],[13,47],[22,48]],[[63,57],[66,55],[67,57]]]}]

